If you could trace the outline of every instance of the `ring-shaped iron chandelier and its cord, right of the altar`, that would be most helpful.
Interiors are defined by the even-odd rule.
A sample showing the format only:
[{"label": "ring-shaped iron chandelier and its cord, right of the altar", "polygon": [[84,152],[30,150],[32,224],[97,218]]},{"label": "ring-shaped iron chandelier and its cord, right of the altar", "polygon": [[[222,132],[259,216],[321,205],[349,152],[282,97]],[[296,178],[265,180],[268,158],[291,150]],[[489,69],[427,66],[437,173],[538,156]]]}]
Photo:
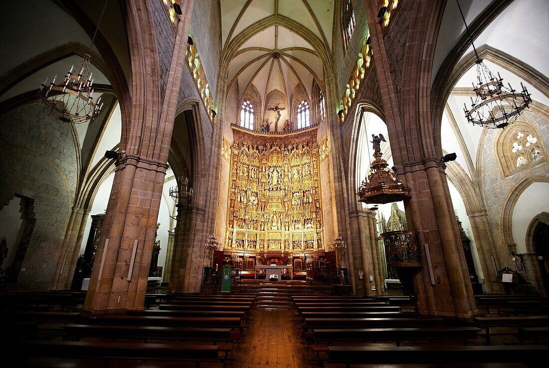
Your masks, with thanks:
[{"label": "ring-shaped iron chandelier and its cord, right of the altar", "polygon": [[477,97],[473,100],[471,97],[471,106],[468,109],[464,103],[465,117],[471,124],[480,125],[488,129],[505,128],[518,119],[522,111],[528,107],[530,102],[530,93],[526,87],[520,83],[522,88],[518,92],[507,83],[509,88],[503,85],[503,78],[497,73],[497,78],[488,66],[479,58],[477,49],[473,43],[473,38],[467,27],[465,17],[461,10],[460,2],[456,0],[457,7],[460,9],[461,18],[465,24],[469,41],[473,46],[473,51],[477,57],[477,83],[473,83],[473,91]]}]

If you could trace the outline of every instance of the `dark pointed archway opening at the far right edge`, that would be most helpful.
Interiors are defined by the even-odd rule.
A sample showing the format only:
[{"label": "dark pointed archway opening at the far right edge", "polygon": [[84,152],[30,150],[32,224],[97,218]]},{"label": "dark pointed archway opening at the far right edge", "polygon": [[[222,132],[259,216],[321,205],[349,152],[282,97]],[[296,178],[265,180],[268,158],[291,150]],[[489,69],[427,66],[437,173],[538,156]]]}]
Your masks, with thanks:
[{"label": "dark pointed archway opening at the far right edge", "polygon": [[[548,234],[549,213],[542,212],[536,215],[528,226],[528,231],[526,232],[526,255],[528,255],[528,260],[530,260],[530,264],[527,266],[529,266],[529,269],[533,272],[537,291],[543,297],[549,295]],[[542,259],[539,259],[538,257],[542,257]]]}]

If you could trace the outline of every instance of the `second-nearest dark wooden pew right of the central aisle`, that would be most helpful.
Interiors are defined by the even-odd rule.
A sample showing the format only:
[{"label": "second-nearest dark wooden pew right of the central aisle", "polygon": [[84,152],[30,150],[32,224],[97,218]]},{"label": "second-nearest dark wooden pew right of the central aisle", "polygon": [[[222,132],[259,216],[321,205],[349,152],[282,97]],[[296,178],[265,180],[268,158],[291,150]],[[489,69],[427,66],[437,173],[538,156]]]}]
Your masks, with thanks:
[{"label": "second-nearest dark wooden pew right of the central aisle", "polygon": [[[400,346],[403,340],[462,340],[467,345],[468,339],[478,338],[477,327],[394,327],[394,328],[329,328],[314,329],[313,339],[316,342],[339,343],[393,341]],[[339,344],[338,344],[339,345]]]}]

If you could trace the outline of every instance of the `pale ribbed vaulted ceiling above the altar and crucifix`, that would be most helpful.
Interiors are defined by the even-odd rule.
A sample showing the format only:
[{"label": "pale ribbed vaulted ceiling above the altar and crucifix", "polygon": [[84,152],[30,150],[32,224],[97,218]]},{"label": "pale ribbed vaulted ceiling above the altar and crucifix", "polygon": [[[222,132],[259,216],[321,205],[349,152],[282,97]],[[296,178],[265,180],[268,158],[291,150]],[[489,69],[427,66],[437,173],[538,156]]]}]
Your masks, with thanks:
[{"label": "pale ribbed vaulted ceiling above the altar and crucifix", "polygon": [[222,0],[229,88],[238,83],[241,99],[253,85],[262,101],[278,90],[289,105],[301,87],[311,101],[313,81],[324,86],[330,64],[333,12],[334,1]]}]

